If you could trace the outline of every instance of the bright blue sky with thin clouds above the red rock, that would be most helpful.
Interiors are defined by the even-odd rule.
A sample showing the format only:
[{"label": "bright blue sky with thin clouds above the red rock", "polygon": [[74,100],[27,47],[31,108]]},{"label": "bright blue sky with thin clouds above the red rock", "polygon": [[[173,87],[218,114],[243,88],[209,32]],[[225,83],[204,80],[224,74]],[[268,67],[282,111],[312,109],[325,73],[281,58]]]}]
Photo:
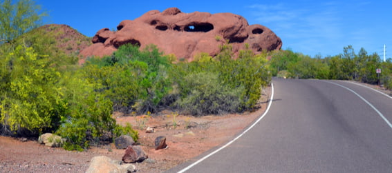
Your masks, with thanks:
[{"label": "bright blue sky with thin clouds above the red rock", "polygon": [[177,7],[182,12],[231,12],[250,25],[270,28],[290,48],[314,57],[336,55],[353,45],[392,57],[392,1],[54,1],[37,0],[49,17],[46,23],[66,24],[93,37],[101,28],[116,28],[120,21],[136,19],[149,10]]}]

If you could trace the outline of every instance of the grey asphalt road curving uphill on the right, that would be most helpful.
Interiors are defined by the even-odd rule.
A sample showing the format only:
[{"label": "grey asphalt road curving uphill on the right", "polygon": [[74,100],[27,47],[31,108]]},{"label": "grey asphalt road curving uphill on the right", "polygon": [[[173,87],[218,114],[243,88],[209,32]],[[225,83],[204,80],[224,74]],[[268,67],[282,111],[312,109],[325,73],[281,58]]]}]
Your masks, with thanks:
[{"label": "grey asphalt road curving uphill on the right", "polygon": [[391,97],[347,81],[272,82],[252,129],[168,172],[392,172]]}]

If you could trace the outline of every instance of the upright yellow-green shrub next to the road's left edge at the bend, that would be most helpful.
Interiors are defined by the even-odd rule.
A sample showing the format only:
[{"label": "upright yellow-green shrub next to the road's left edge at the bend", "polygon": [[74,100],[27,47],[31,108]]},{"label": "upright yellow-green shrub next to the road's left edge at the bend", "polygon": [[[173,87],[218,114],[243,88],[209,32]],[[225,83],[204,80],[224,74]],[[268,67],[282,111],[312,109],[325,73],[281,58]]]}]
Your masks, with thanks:
[{"label": "upright yellow-green shrub next to the road's left edge at the bend", "polygon": [[244,88],[240,96],[241,108],[248,110],[256,105],[261,96],[261,88],[271,80],[266,54],[254,55],[245,45],[245,50],[240,50],[239,58],[234,60],[231,51],[230,45],[223,45],[221,48],[221,53],[217,56],[219,61],[216,63],[218,77],[223,85],[230,88]]}]

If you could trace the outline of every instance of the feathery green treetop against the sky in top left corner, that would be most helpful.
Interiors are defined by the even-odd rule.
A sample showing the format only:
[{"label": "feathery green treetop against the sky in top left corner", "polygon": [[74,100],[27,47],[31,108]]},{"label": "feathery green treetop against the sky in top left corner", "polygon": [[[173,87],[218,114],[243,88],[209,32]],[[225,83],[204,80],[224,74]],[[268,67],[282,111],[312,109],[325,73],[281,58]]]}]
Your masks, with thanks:
[{"label": "feathery green treetop against the sky in top left corner", "polygon": [[11,43],[41,24],[46,13],[39,14],[41,7],[31,0],[19,0],[12,3],[4,0],[0,4],[0,44]]}]

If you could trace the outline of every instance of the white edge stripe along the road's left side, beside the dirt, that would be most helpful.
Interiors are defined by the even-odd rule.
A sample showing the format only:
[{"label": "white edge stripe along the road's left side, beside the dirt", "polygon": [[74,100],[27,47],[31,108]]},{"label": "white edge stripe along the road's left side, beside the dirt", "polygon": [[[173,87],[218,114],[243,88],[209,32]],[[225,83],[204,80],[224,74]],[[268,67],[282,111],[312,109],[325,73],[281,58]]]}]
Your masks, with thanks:
[{"label": "white edge stripe along the road's left side, beside the dirt", "polygon": [[271,88],[272,88],[272,94],[271,94],[271,98],[270,101],[268,102],[268,107],[265,110],[264,114],[262,116],[260,116],[259,119],[257,119],[257,121],[255,121],[247,130],[243,131],[241,134],[239,134],[239,136],[236,136],[235,139],[233,139],[232,141],[226,143],[226,145],[223,145],[222,147],[218,148],[218,150],[215,150],[214,152],[211,152],[210,154],[208,154],[207,156],[204,156],[202,159],[199,159],[198,161],[192,163],[191,165],[189,165],[188,167],[185,167],[183,170],[180,170],[178,173],[183,173],[187,170],[189,170],[191,167],[194,167],[195,165],[197,165],[198,163],[204,161],[205,159],[209,158],[209,156],[212,156],[214,154],[216,154],[217,152],[223,150],[223,148],[229,146],[230,144],[232,144],[234,141],[236,141],[237,139],[239,139],[241,136],[243,136],[243,134],[245,134],[246,132],[248,132],[250,129],[252,129],[254,127],[254,125],[256,125],[256,123],[259,123],[259,121],[261,121],[261,119],[263,119],[263,117],[268,113],[268,110],[270,110],[271,107],[271,103],[272,100],[274,99],[274,84],[271,83]]}]

